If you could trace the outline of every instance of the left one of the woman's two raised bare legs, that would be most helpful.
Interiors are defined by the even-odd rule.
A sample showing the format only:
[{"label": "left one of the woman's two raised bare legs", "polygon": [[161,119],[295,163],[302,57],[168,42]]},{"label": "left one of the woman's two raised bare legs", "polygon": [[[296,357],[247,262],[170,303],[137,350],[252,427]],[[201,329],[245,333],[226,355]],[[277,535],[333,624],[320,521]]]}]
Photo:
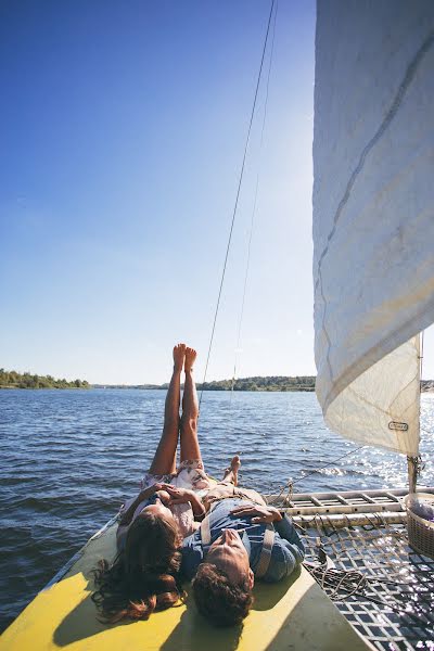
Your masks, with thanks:
[{"label": "left one of the woman's two raised bare legs", "polygon": [[174,348],[174,373],[167,390],[164,406],[163,434],[152,461],[151,474],[167,474],[176,470],[176,449],[179,434],[179,404],[181,391],[181,371],[186,356],[186,344]]}]

